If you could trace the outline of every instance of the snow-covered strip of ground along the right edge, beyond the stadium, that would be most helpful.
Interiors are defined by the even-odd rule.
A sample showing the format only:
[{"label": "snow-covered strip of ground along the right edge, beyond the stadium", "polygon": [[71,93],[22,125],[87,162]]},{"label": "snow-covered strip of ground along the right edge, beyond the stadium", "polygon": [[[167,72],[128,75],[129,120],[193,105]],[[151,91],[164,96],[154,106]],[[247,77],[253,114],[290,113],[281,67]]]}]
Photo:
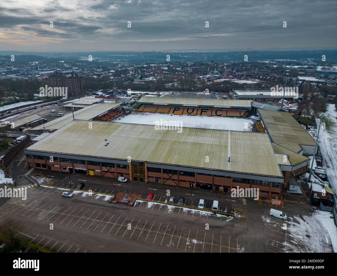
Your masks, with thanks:
[{"label": "snow-covered strip of ground along the right edge, beyond the stadium", "polygon": [[[319,131],[319,147],[324,158],[324,163],[326,165],[326,172],[330,184],[333,187],[335,195],[337,194],[337,112],[334,104],[328,104],[328,109],[325,115],[330,115],[330,117],[335,122],[335,126],[330,131],[330,133],[323,129]],[[319,121],[317,122],[319,124]]]}]

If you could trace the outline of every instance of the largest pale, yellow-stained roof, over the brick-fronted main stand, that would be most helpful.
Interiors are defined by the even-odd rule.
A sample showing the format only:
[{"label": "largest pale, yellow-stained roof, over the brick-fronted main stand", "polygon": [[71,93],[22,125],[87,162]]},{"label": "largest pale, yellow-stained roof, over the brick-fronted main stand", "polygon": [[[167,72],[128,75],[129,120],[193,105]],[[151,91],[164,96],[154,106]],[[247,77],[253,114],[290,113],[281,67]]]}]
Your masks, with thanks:
[{"label": "largest pale, yellow-stained roof, over the brick-fronted main stand", "polygon": [[26,150],[122,160],[131,156],[136,161],[283,178],[267,133],[201,128],[182,128],[179,133],[99,121],[88,128],[88,121],[74,120]]}]

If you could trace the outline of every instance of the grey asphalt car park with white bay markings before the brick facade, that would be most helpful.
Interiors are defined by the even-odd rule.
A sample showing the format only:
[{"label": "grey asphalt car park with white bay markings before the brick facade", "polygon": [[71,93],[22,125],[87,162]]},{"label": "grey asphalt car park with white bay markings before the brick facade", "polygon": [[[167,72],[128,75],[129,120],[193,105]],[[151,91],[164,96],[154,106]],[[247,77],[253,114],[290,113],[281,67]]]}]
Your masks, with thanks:
[{"label": "grey asphalt car park with white bay markings before the brick facade", "polygon": [[[19,165],[20,162],[13,163],[17,168],[23,164],[21,162],[17,166],[16,163]],[[0,206],[0,216],[19,218],[24,222],[25,228],[23,234],[18,235],[28,235],[27,240],[34,238],[34,242],[40,242],[44,238],[40,245],[51,240],[46,247],[51,248],[56,244],[53,251],[120,252],[123,249],[125,252],[221,250],[231,253],[272,253],[314,251],[316,248],[311,235],[311,239],[305,235],[298,239],[296,233],[300,228],[296,227],[299,219],[293,220],[298,213],[308,216],[313,209],[310,205],[289,201],[284,202],[282,207],[276,207],[261,198],[254,201],[232,198],[230,194],[205,189],[191,191],[190,188],[158,183],[121,183],[116,179],[86,177],[81,174],[71,175],[71,187],[83,182],[84,190],[91,190],[92,193],[73,191],[73,197],[66,198],[61,194],[65,190],[71,191],[68,174],[22,170],[40,176],[56,187],[31,183],[17,186],[27,187],[27,201],[10,198]],[[17,179],[18,184],[26,180]],[[141,194],[141,199],[133,207],[109,203],[111,196],[118,191]],[[146,201],[151,192],[154,193],[153,201]],[[175,197],[175,205],[165,203],[170,196]],[[177,206],[181,196],[185,198],[185,203]],[[220,209],[226,211],[228,216],[215,216],[197,209],[201,198],[205,200],[205,208],[211,208],[213,200],[219,201]],[[270,208],[281,208],[287,214],[288,221],[270,217]],[[57,231],[50,230],[50,223],[53,223],[54,230]],[[310,226],[305,227],[309,227],[307,231],[310,231]],[[321,226],[315,227],[319,231],[322,229]],[[330,250],[329,246],[326,248]]]}]

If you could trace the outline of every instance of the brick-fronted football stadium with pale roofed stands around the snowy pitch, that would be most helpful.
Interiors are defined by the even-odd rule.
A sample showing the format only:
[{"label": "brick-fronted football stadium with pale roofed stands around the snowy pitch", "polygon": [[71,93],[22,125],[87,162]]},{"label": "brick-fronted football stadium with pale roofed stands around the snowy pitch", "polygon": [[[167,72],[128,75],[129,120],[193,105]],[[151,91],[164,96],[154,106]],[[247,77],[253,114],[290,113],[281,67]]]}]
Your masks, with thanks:
[{"label": "brick-fronted football stadium with pale roofed stands around the snowy pitch", "polygon": [[[170,105],[177,102],[180,106],[189,104],[181,98],[142,97],[141,101],[141,106],[153,107],[156,113],[160,106],[155,104],[165,103],[168,109],[175,108]],[[198,109],[210,105],[218,108],[218,102],[223,102],[192,101]],[[231,105],[223,106],[224,110],[251,109],[250,101],[231,101]],[[76,112],[84,116],[85,109],[104,105],[107,104],[94,104]],[[119,103],[106,110],[118,106]],[[290,175],[306,172],[309,159],[303,154],[313,154],[315,142],[289,113],[258,109],[258,114],[258,132],[193,127],[178,132],[153,125],[103,121],[99,119],[101,115],[90,114],[91,119],[77,115],[73,119],[68,114],[64,121],[50,122],[52,133],[33,139],[33,145],[24,153],[29,167],[43,170],[122,176],[131,181],[222,192],[237,186],[259,188],[262,197],[280,198]],[[179,119],[183,118],[180,115]],[[300,138],[295,139],[294,135]]]}]

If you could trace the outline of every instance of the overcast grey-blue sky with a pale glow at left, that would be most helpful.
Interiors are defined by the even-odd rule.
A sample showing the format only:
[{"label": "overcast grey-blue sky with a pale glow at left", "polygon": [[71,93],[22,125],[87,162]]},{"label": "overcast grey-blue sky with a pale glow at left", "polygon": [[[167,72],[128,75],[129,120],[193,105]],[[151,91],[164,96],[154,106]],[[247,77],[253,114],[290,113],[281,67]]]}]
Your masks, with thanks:
[{"label": "overcast grey-blue sky with a pale glow at left", "polygon": [[3,0],[0,50],[337,48],[336,6],[336,0]]}]

